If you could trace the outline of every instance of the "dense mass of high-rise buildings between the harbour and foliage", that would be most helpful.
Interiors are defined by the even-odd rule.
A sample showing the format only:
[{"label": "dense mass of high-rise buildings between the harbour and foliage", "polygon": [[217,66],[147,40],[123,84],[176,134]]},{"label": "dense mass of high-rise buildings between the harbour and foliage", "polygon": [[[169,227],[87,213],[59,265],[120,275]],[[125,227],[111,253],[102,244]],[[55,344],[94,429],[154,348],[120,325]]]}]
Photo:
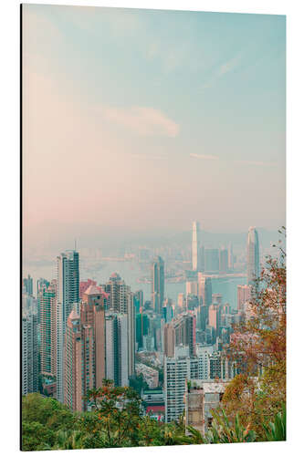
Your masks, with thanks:
[{"label": "dense mass of high-rise buildings between the harbour and foliage", "polygon": [[[198,227],[196,223],[193,226],[196,242]],[[204,254],[208,252],[204,243],[200,247]],[[260,268],[257,229],[248,229],[246,278],[250,285],[240,284],[242,275],[234,266],[227,269],[227,249],[221,246],[209,250],[217,252],[217,271],[212,261],[212,272],[204,269],[208,262],[202,259],[200,270],[193,270],[197,249],[191,249],[194,258],[183,270],[185,294],[180,293],[177,300],[171,298],[170,290],[167,293],[166,278],[170,276],[164,274],[160,256],[147,261],[152,284],[150,300],[144,299],[142,289],[135,292],[118,273],[112,273],[106,283],[99,285],[91,279],[80,280],[77,251],[57,256],[57,280],[40,278],[36,297],[33,278],[27,275],[23,280],[24,394],[44,392],[73,412],[94,413],[94,402],[89,399],[92,391],[109,391],[110,385],[137,390],[138,382],[143,381],[147,389],[140,392],[151,399],[144,406],[144,415],[152,412],[152,420],[165,423],[179,420],[183,411],[186,420],[190,416],[193,422],[194,400],[190,405],[184,398],[193,391],[192,387],[197,389],[197,382],[199,394],[206,393],[204,400],[212,391],[212,402],[220,404],[222,393],[218,395],[218,389],[223,392],[244,368],[236,359],[227,357],[225,350],[239,337],[235,325],[250,325],[253,316],[251,270],[255,267],[258,278]],[[136,261],[141,263],[140,255]],[[237,255],[233,263],[238,264]],[[131,264],[129,267],[133,268]],[[218,277],[225,281],[233,276],[234,271],[237,306],[228,300],[225,290],[214,292],[212,285]],[[158,395],[157,399],[154,395]],[[204,428],[201,420],[195,421],[203,435],[213,420],[207,409],[204,414],[208,418]]]}]

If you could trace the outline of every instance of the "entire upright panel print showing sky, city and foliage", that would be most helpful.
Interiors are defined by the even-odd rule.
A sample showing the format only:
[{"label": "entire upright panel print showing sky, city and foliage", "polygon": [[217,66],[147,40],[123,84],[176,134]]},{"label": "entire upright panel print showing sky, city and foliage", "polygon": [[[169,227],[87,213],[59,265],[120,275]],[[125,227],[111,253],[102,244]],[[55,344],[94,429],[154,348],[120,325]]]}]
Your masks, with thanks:
[{"label": "entire upright panel print showing sky, city and foliage", "polygon": [[286,440],[286,16],[21,15],[22,450]]}]

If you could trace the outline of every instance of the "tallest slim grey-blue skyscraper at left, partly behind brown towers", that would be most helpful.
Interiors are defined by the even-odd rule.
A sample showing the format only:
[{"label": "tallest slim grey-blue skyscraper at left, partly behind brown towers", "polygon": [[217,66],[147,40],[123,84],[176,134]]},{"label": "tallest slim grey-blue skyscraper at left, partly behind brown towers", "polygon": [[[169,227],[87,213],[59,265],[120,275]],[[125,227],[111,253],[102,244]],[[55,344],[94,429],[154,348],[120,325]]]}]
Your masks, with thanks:
[{"label": "tallest slim grey-blue skyscraper at left, partly behind brown towers", "polygon": [[67,251],[57,257],[57,399],[64,401],[64,340],[68,316],[79,304],[79,253]]}]

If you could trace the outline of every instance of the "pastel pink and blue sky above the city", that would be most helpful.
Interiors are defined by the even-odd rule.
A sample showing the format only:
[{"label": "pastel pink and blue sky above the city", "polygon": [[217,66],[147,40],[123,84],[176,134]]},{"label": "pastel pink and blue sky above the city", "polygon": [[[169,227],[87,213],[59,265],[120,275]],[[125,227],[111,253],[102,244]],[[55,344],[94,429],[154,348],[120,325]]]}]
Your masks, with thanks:
[{"label": "pastel pink and blue sky above the city", "polygon": [[285,224],[284,16],[25,5],[24,38],[27,239]]}]

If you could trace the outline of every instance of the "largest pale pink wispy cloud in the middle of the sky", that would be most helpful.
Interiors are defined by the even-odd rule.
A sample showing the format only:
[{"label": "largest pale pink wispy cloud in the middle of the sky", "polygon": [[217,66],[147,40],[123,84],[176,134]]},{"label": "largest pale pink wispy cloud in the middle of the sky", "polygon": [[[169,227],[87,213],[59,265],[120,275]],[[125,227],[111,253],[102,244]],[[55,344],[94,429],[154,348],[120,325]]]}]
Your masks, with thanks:
[{"label": "largest pale pink wispy cloud in the middle of the sky", "polygon": [[131,108],[106,108],[104,117],[112,123],[140,136],[165,136],[175,138],[179,125],[162,111],[153,108],[134,106]]}]

